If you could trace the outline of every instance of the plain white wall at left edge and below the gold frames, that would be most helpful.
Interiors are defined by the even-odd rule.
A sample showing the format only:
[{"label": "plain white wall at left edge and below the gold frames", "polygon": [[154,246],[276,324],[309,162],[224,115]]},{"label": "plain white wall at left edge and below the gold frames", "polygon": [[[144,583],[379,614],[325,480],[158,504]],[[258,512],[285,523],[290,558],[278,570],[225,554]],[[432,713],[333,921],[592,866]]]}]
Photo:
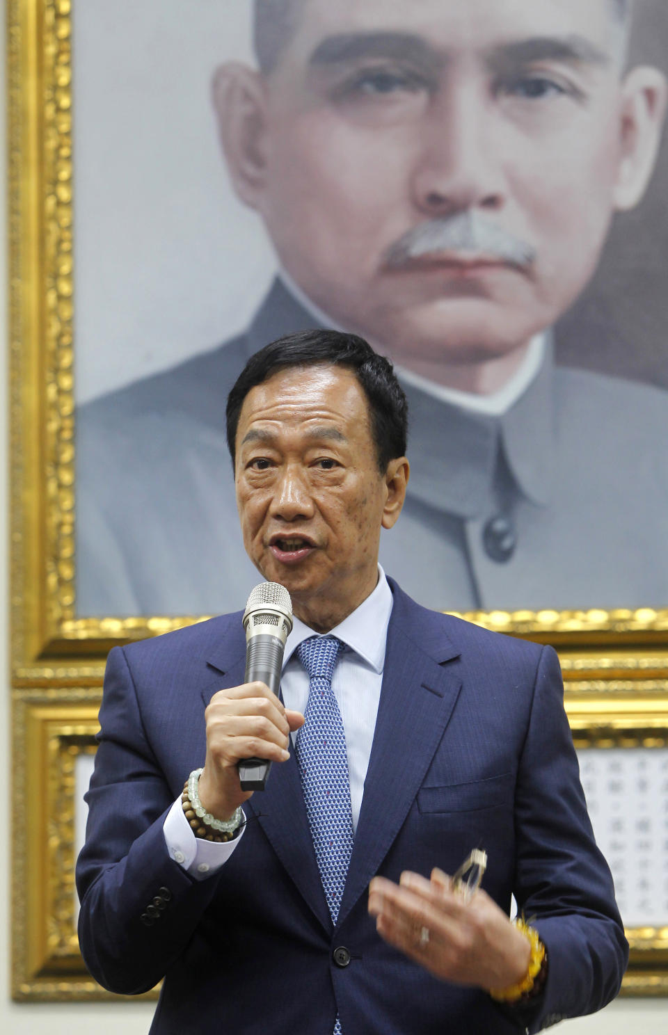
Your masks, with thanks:
[{"label": "plain white wall at left edge and below the gold frames", "polygon": [[[0,20],[0,33],[4,31],[4,22]],[[0,37],[0,76],[4,81],[4,42]],[[0,109],[0,141],[5,141],[4,112]],[[4,157],[1,160],[4,173]],[[4,175],[2,176],[2,197],[6,196]],[[4,204],[0,206],[0,238],[6,239],[6,211]],[[4,248],[0,249],[0,327],[6,327],[6,265]],[[4,330],[2,333],[6,332]],[[0,397],[7,397],[6,361],[0,362]],[[4,408],[6,412],[6,406]],[[6,421],[0,420],[0,628],[7,629],[7,428]],[[9,758],[9,679],[6,638],[0,639],[0,731],[5,757]],[[5,778],[9,778],[9,766],[5,769]],[[19,774],[20,775],[20,774]],[[6,798],[6,796],[5,796]],[[6,817],[6,810],[3,810]],[[9,959],[11,955],[10,935],[10,886],[9,875],[11,866],[11,839],[8,819],[4,820],[5,828],[0,834],[0,958],[7,960],[0,968],[0,1031],[9,1035],[116,1035],[121,1025],[123,1035],[144,1035],[150,1027],[153,1013],[152,1003],[12,1003],[9,999]],[[573,1035],[628,1035],[634,1027],[645,1027],[652,1032],[668,1031],[668,1000],[618,1000],[607,1010],[593,1017],[567,1022],[559,1027],[559,1032],[572,1032]],[[239,1033],[241,1035],[241,1033]],[[299,1035],[299,1033],[296,1033]],[[409,1033],[407,1033],[409,1035]]]}]

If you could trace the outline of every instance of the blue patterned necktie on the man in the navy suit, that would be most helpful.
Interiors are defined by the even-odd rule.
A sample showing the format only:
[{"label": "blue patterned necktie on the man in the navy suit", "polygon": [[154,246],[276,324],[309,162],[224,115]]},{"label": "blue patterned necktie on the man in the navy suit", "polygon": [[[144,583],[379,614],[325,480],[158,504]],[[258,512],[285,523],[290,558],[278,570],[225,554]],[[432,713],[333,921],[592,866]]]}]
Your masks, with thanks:
[{"label": "blue patterned necktie on the man in the navy suit", "polygon": [[[331,675],[343,647],[336,637],[311,637],[297,647],[309,673],[304,723],[296,753],[318,869],[336,924],[352,852],[352,814],[346,735]],[[341,1035],[337,1016],[332,1035]]]}]

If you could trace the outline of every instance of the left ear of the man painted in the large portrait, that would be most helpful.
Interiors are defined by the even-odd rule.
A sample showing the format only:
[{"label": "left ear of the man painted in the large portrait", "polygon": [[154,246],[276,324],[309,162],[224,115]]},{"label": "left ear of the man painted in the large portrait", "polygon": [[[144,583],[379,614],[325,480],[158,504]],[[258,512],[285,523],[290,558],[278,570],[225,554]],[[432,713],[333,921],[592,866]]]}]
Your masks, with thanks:
[{"label": "left ear of the man painted in the large portrait", "polygon": [[266,182],[266,95],[259,72],[236,61],[216,68],[211,82],[219,137],[234,189],[261,209]]}]

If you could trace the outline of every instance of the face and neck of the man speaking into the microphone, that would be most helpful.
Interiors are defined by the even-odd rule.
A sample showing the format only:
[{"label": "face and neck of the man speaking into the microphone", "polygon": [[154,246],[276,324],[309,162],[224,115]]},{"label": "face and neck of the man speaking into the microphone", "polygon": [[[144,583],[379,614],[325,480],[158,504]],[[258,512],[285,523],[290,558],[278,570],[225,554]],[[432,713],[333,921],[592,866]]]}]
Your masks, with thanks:
[{"label": "face and neck of the man speaking into the microphone", "polygon": [[376,585],[380,529],[403,501],[400,467],[379,473],[367,400],[349,369],[289,368],[246,395],[235,456],[243,545],[312,628],[332,628]]}]

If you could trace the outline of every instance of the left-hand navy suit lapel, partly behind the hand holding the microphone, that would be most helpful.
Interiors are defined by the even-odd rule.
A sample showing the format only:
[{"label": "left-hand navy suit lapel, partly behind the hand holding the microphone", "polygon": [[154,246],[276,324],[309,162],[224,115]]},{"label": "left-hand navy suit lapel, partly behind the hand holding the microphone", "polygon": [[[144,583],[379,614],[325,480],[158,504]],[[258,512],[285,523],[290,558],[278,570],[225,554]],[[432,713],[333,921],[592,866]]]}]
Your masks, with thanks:
[{"label": "left-hand navy suit lapel, partly behind the hand holding the microphone", "polygon": [[[205,705],[217,690],[239,686],[245,672],[245,642],[241,654],[229,651],[210,661],[221,675],[202,690]],[[294,748],[290,758],[281,765],[272,765],[264,791],[256,792],[243,805],[251,820],[259,822],[273,851],[292,878],[296,888],[324,929],[331,931],[331,918],[327,908],[318,863],[313,849],[309,819],[303,801],[301,780]]]}]

